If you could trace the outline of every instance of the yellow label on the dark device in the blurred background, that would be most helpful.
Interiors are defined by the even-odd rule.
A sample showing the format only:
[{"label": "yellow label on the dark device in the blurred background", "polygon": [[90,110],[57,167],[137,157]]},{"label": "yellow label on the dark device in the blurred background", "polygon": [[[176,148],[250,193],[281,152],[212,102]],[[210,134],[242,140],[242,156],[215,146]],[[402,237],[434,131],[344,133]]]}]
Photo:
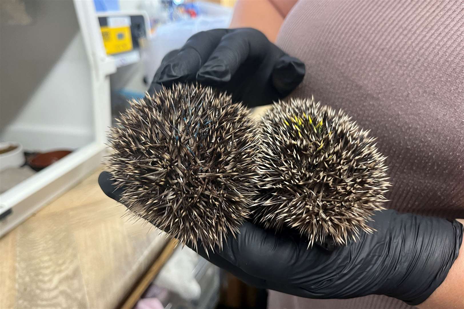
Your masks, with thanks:
[{"label": "yellow label on the dark device in the blurred background", "polygon": [[100,27],[106,54],[123,53],[132,50],[130,27]]}]

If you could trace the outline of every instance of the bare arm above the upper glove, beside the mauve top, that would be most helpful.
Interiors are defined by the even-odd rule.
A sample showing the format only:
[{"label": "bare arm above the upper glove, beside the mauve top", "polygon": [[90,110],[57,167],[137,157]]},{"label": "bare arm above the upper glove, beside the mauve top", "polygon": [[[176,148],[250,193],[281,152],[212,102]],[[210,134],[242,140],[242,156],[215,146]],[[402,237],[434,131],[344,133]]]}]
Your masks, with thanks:
[{"label": "bare arm above the upper glove, beside the mauve top", "polygon": [[285,16],[295,3],[296,0],[238,0],[230,27],[255,28],[275,42]]}]

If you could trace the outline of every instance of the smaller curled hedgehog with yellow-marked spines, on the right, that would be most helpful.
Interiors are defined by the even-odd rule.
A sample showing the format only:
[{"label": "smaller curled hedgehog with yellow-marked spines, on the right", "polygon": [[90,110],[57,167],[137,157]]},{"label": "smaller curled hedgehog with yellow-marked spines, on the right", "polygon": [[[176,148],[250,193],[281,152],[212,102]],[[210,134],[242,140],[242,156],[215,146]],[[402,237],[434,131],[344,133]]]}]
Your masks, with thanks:
[{"label": "smaller curled hedgehog with yellow-marked spines, on the right", "polygon": [[342,110],[311,99],[279,101],[261,123],[254,220],[313,243],[356,241],[390,186],[386,157]]}]

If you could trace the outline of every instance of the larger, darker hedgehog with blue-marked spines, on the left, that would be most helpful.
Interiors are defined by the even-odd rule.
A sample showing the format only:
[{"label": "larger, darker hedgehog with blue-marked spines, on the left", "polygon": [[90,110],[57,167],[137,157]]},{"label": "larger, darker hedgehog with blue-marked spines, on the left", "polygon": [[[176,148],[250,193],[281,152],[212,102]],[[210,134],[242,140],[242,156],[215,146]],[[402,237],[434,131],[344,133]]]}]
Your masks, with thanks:
[{"label": "larger, darker hedgehog with blue-marked spines, on the left", "polygon": [[258,144],[258,122],[230,95],[176,84],[120,114],[108,166],[134,217],[208,252],[250,218]]}]

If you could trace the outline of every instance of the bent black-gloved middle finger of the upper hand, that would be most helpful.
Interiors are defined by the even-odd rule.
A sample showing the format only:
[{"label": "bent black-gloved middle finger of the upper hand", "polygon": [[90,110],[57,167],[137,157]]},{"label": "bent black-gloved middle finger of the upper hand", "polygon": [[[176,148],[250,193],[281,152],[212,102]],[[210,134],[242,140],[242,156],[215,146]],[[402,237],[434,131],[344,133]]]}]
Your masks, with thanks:
[{"label": "bent black-gloved middle finger of the upper hand", "polygon": [[256,29],[243,28],[228,33],[200,68],[196,78],[208,85],[225,84],[245,60],[261,61],[266,55],[264,46],[267,45],[269,41]]}]

